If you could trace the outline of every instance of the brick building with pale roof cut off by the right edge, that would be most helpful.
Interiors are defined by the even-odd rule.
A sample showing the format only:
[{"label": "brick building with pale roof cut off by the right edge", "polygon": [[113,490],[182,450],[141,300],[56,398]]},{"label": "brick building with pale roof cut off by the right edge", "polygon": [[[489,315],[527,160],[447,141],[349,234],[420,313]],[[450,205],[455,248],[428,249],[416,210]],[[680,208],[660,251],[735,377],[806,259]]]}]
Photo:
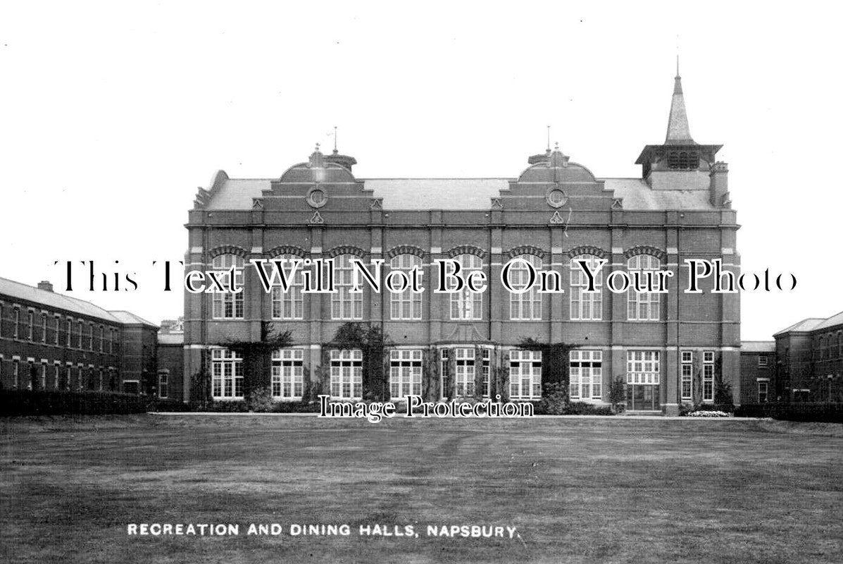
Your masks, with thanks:
[{"label": "brick building with pale roof cut off by the right edge", "polygon": [[803,319],[773,338],[778,398],[843,402],[843,312]]}]

